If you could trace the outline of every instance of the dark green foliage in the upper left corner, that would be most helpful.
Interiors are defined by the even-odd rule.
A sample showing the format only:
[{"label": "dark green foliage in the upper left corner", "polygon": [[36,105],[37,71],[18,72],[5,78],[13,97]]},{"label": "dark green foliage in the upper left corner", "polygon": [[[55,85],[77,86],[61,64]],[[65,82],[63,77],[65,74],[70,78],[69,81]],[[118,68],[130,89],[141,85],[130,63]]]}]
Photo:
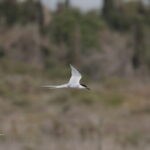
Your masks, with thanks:
[{"label": "dark green foliage in the upper left corner", "polygon": [[3,1],[0,3],[0,19],[8,26],[15,23],[36,22],[40,11],[38,9],[38,2],[34,0],[23,2],[17,2],[16,0]]}]

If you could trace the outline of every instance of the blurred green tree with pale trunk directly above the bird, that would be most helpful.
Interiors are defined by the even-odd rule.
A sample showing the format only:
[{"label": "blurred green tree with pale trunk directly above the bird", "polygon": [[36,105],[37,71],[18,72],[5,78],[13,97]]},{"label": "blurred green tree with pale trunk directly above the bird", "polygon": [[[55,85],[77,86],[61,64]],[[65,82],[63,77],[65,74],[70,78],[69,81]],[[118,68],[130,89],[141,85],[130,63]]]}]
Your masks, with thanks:
[{"label": "blurred green tree with pale trunk directly above the bird", "polygon": [[67,63],[80,63],[80,55],[100,48],[99,35],[103,21],[96,12],[82,14],[78,9],[62,9],[54,13],[50,36],[55,44],[66,48]]}]

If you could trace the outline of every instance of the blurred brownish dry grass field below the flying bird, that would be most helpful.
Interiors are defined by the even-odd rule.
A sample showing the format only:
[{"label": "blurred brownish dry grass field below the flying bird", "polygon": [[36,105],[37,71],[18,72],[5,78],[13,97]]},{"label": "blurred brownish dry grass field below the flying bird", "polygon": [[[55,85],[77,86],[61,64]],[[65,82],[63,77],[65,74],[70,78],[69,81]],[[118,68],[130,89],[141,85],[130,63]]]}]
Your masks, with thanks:
[{"label": "blurred brownish dry grass field below the flying bird", "polygon": [[1,150],[149,149],[148,82],[109,79],[92,91],[46,90],[39,87],[54,83],[49,75],[17,68],[0,70]]}]

